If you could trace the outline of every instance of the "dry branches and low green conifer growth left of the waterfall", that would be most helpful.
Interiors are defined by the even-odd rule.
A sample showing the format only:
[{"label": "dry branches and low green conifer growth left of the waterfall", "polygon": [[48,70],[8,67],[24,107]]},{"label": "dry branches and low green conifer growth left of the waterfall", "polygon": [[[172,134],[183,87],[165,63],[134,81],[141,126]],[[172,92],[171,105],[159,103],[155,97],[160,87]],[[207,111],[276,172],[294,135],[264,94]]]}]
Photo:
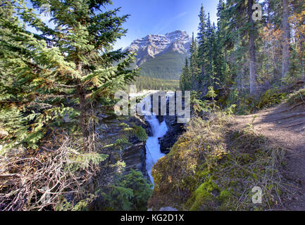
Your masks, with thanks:
[{"label": "dry branches and low green conifer growth left of the waterfall", "polygon": [[132,141],[146,141],[145,129],[126,121],[104,128],[120,132],[112,139],[95,134],[94,151],[82,148],[76,132],[58,128],[37,149],[0,149],[0,210],[147,210],[151,186],[142,172],[126,172],[122,160]]}]

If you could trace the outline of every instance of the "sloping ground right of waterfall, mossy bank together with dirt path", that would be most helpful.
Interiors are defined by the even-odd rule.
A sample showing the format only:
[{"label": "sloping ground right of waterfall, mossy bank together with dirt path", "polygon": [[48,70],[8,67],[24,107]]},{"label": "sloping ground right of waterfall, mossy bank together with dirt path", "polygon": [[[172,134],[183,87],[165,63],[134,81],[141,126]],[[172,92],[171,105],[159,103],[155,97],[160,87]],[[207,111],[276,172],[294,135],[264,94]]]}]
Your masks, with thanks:
[{"label": "sloping ground right of waterfall, mossy bank together with dirt path", "polygon": [[[149,207],[305,210],[305,90],[259,113],[193,118],[153,168]],[[262,203],[253,203],[260,187]]]}]

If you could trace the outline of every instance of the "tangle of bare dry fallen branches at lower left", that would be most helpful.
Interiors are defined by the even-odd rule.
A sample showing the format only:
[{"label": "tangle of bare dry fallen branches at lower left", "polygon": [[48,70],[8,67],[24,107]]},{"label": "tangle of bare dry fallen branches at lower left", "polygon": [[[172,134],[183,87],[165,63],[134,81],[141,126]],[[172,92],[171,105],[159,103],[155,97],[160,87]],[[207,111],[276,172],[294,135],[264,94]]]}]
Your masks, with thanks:
[{"label": "tangle of bare dry fallen branches at lower left", "polygon": [[71,166],[79,155],[71,147],[80,149],[81,144],[65,133],[54,134],[42,147],[46,151],[32,158],[0,158],[0,184],[5,184],[0,185],[0,211],[55,210],[62,196],[76,203],[86,199],[88,191],[82,187],[91,184],[99,168],[89,163],[75,170]]}]

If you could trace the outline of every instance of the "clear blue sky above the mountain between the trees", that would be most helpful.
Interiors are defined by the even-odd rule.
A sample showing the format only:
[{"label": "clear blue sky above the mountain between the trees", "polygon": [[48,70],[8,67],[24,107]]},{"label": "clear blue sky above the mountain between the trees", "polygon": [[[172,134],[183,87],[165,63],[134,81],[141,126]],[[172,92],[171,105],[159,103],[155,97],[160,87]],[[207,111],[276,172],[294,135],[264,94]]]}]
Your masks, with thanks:
[{"label": "clear blue sky above the mountain between the trees", "polygon": [[122,7],[119,15],[130,14],[123,25],[128,29],[126,37],[116,42],[115,49],[124,49],[147,34],[185,30],[189,35],[192,32],[196,35],[201,4],[206,14],[210,13],[211,21],[216,23],[218,0],[113,0],[113,5],[106,8]]}]

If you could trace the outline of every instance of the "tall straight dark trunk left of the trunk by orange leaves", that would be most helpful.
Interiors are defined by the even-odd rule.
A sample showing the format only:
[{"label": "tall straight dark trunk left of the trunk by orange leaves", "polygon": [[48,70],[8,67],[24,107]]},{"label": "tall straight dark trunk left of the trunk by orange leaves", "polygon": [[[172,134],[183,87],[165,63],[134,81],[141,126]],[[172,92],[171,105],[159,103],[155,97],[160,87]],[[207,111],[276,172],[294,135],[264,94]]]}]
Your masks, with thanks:
[{"label": "tall straight dark trunk left of the trunk by orange leaves", "polygon": [[254,37],[254,20],[252,18],[253,6],[254,0],[248,1],[248,15],[249,15],[249,23],[251,24],[250,30],[249,30],[249,73],[250,73],[250,95],[254,96],[257,91],[257,85],[256,85],[256,70],[255,70],[255,37]]}]

